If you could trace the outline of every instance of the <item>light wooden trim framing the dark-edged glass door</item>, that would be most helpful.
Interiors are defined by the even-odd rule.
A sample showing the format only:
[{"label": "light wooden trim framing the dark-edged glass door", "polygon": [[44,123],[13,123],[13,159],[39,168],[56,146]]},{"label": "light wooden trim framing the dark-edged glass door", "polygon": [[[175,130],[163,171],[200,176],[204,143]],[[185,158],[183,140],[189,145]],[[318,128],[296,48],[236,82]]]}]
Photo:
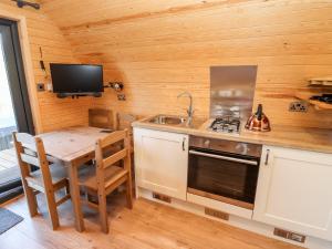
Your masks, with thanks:
[{"label": "light wooden trim framing the dark-edged glass door", "polygon": [[37,87],[34,82],[32,56],[31,56],[28,28],[27,28],[27,19],[24,15],[11,13],[6,10],[0,10],[0,18],[17,22],[19,41],[20,41],[20,50],[21,50],[21,56],[23,62],[23,72],[25,76],[30,108],[32,113],[32,123],[34,126],[35,134],[42,133],[43,129],[41,125],[41,114],[38,104],[38,94],[37,94]]}]

